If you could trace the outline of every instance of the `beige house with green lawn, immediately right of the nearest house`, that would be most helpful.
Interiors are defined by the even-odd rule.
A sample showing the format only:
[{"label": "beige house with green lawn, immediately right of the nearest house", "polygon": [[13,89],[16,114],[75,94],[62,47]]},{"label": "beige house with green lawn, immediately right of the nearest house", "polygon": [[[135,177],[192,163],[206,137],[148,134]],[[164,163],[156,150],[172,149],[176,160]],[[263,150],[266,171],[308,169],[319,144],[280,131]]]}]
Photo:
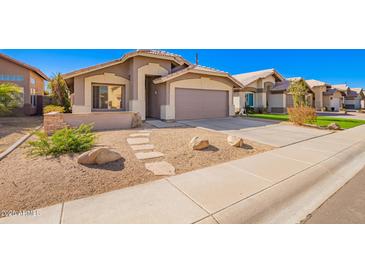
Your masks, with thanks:
[{"label": "beige house with green lawn, immediately right of the nearest house", "polygon": [[271,93],[276,83],[282,82],[285,78],[275,69],[266,69],[233,76],[244,86],[234,99],[236,111],[245,106],[245,102],[257,111],[267,110],[268,112],[285,112],[286,106],[283,103],[283,95]]}]

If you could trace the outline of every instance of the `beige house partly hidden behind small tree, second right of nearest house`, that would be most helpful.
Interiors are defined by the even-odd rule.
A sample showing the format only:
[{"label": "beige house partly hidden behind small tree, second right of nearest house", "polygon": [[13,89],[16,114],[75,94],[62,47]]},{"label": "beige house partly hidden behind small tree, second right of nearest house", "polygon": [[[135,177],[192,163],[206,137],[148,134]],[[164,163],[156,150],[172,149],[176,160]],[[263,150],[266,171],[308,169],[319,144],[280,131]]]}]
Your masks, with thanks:
[{"label": "beige house partly hidden behind small tree, second right of nearest house", "polygon": [[[293,81],[304,81],[301,77],[288,78],[284,81],[277,82],[271,89],[269,97],[269,106],[271,112],[286,113],[288,107],[294,107],[293,95],[289,92],[289,87]],[[314,106],[314,93],[311,87],[307,85],[308,93],[305,95],[305,101],[309,106]]]}]

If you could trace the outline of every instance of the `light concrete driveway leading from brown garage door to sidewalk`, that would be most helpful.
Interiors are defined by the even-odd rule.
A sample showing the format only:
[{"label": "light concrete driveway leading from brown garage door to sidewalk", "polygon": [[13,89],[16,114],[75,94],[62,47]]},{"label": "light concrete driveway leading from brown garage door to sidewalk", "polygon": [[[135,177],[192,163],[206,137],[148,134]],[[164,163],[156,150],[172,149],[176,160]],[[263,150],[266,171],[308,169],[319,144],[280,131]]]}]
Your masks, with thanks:
[{"label": "light concrete driveway leading from brown garage door to sidewalk", "polygon": [[188,126],[219,131],[243,139],[284,147],[308,139],[331,134],[330,131],[280,124],[277,121],[261,121],[248,118],[217,118],[179,121]]}]

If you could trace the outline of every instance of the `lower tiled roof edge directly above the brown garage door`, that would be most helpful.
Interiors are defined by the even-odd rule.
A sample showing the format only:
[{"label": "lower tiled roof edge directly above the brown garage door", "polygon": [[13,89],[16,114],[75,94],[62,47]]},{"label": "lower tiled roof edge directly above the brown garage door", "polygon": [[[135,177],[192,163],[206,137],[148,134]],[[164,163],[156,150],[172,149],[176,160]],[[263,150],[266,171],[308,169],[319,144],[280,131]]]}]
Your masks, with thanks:
[{"label": "lower tiled roof edge directly above the brown garage door", "polygon": [[198,74],[207,74],[207,75],[227,77],[231,81],[233,81],[239,88],[243,88],[243,85],[241,84],[241,82],[237,81],[237,79],[232,77],[229,73],[222,71],[222,70],[205,67],[205,66],[200,66],[200,65],[190,65],[182,70],[178,70],[178,71],[170,73],[166,76],[157,78],[153,81],[153,83],[155,83],[155,84],[164,83],[164,82],[172,80],[176,77],[182,76],[186,73],[198,73]]}]

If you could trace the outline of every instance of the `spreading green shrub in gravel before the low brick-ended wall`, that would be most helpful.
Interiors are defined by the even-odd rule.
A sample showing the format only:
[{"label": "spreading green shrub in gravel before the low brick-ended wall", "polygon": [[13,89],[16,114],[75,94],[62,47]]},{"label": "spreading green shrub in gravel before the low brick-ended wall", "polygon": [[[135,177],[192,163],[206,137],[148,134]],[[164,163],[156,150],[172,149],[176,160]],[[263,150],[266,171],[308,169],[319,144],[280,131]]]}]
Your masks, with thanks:
[{"label": "spreading green shrub in gravel before the low brick-ended wall", "polygon": [[82,152],[92,148],[95,134],[91,125],[80,125],[78,128],[63,128],[48,137],[44,132],[36,132],[38,140],[30,141],[30,153],[38,156],[59,156],[65,153]]}]

